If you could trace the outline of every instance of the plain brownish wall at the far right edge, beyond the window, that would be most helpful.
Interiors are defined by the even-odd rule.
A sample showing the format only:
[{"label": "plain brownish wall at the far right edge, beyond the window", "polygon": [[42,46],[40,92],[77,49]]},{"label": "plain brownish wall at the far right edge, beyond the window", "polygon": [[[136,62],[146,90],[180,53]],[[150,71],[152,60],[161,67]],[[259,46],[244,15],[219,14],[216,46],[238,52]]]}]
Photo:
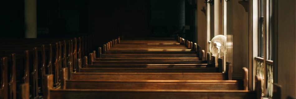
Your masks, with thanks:
[{"label": "plain brownish wall at the far right edge, beyond the window", "polygon": [[296,96],[296,2],[278,1],[278,84],[282,86],[282,99]]}]

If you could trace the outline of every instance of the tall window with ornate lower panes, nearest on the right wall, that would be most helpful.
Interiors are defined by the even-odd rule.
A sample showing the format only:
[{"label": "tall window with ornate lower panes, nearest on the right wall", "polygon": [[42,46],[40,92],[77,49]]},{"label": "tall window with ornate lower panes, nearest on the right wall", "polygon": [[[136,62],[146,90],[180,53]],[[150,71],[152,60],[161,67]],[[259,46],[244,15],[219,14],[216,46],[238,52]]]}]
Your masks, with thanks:
[{"label": "tall window with ornate lower panes, nearest on the right wall", "polygon": [[258,57],[255,57],[256,75],[263,79],[265,97],[272,97],[273,90],[273,1],[258,0]]}]

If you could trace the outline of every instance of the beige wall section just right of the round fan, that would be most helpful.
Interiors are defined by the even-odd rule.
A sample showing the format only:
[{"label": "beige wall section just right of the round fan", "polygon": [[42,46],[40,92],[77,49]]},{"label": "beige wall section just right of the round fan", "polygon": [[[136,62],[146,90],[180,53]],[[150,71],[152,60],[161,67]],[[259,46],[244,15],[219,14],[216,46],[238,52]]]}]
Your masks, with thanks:
[{"label": "beige wall section just right of the round fan", "polygon": [[245,11],[244,7],[238,1],[240,0],[227,2],[230,6],[227,9],[230,13],[227,16],[227,21],[230,22],[229,26],[227,26],[227,43],[230,44],[227,50],[230,51],[227,52],[227,62],[232,61],[233,63],[234,79],[241,79],[241,68],[248,67],[249,64],[248,12]]}]

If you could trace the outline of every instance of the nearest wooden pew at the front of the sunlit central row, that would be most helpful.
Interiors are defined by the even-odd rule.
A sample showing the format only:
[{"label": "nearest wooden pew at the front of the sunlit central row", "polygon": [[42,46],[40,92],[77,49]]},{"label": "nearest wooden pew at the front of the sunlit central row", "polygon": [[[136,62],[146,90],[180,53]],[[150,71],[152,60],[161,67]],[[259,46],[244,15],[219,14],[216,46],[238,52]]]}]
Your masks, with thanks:
[{"label": "nearest wooden pew at the front of the sunlit central row", "polygon": [[[261,99],[261,78],[255,77],[255,91],[247,90],[137,90],[137,89],[52,89],[52,75],[45,76],[45,99],[88,98],[201,98]],[[136,94],[135,94],[136,93]]]}]

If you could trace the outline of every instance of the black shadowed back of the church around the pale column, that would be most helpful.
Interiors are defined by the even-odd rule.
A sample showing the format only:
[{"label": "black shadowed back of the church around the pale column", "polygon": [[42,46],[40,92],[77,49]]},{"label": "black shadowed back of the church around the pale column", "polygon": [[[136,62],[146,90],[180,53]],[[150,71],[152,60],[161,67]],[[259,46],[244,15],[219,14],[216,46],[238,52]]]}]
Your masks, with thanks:
[{"label": "black shadowed back of the church around the pale column", "polygon": [[[37,38],[195,37],[192,0],[37,0]],[[0,3],[0,38],[24,38],[24,1]],[[187,27],[185,28],[185,25]],[[188,28],[190,27],[190,29]]]}]

